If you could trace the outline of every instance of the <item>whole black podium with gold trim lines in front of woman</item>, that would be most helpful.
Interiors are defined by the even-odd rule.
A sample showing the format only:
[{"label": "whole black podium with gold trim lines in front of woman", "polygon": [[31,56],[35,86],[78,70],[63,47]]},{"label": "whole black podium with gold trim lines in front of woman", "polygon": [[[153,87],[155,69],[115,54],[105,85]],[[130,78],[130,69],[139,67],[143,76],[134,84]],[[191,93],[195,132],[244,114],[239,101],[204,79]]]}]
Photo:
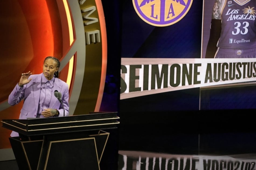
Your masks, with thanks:
[{"label": "whole black podium with gold trim lines in front of woman", "polygon": [[10,137],[19,169],[100,169],[109,133],[117,128],[117,112],[66,117],[2,120],[19,133]]}]

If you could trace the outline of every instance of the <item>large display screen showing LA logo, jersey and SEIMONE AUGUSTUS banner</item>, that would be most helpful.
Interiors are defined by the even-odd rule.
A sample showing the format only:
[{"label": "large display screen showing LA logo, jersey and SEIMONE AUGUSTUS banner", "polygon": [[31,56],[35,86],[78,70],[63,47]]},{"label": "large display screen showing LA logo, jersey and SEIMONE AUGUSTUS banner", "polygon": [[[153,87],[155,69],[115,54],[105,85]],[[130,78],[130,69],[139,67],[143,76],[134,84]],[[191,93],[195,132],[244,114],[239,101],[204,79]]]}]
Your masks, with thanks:
[{"label": "large display screen showing LA logo, jersey and SEIMONE AUGUSTUS banner", "polygon": [[255,108],[255,5],[125,0],[121,111]]}]

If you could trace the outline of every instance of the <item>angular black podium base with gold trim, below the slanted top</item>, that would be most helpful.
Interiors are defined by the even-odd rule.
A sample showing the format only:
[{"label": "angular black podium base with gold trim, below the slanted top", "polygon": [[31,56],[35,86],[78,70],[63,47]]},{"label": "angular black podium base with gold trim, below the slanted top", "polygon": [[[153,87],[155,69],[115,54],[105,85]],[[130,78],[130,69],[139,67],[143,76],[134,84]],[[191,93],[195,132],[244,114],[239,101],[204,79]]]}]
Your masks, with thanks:
[{"label": "angular black podium base with gold trim, below the slanted top", "polygon": [[[100,169],[109,133],[61,133],[34,139],[11,137],[19,169]],[[41,139],[40,139],[41,138]]]}]

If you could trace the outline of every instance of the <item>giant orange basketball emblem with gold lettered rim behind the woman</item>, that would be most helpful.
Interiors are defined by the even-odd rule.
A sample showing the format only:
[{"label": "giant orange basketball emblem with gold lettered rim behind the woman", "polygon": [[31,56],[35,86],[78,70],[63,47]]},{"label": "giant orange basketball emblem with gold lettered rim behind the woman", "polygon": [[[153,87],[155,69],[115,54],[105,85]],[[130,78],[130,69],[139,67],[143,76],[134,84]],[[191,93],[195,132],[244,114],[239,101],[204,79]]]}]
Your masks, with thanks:
[{"label": "giant orange basketball emblem with gold lettered rim behind the woman", "polygon": [[[1,1],[0,5],[6,9],[3,15],[9,15],[11,9],[15,11],[13,22],[19,21],[20,27],[8,25],[12,16],[5,17],[2,24],[9,32],[17,32],[6,32],[5,43],[10,43],[10,47],[13,44],[22,47],[15,48],[13,53],[8,53],[8,46],[1,47],[1,51],[8,54],[3,58],[2,67],[11,63],[10,68],[15,71],[3,77],[12,81],[8,79],[9,84],[1,86],[4,93],[0,95],[0,119],[19,118],[23,102],[10,106],[8,96],[21,73],[41,73],[47,56],[54,56],[61,62],[59,78],[69,84],[69,116],[99,111],[107,65],[106,25],[101,0],[17,0]],[[10,148],[10,131],[0,128],[0,132],[3,134],[0,147]]]}]

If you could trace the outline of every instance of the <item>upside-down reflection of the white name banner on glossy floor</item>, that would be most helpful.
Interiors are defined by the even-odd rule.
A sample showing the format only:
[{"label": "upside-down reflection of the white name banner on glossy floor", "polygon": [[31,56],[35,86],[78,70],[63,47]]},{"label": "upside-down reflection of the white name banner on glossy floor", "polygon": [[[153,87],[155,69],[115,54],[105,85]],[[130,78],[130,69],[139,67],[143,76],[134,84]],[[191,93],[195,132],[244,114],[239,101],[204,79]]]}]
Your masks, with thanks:
[{"label": "upside-down reflection of the white name banner on glossy floor", "polygon": [[237,155],[176,155],[118,151],[118,170],[255,170],[256,153]]}]

